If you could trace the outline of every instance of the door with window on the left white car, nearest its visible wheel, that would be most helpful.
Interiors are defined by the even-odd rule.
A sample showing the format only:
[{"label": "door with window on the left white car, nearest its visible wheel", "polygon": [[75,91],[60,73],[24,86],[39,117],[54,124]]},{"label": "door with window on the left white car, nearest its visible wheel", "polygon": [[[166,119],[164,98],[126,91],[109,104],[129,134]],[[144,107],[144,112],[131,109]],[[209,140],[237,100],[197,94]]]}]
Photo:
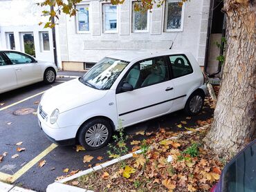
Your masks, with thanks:
[{"label": "door with window on the left white car, nearest its visible wheel", "polygon": [[6,57],[10,59],[15,68],[17,86],[33,84],[42,79],[42,69],[39,64],[22,52],[6,51]]}]

